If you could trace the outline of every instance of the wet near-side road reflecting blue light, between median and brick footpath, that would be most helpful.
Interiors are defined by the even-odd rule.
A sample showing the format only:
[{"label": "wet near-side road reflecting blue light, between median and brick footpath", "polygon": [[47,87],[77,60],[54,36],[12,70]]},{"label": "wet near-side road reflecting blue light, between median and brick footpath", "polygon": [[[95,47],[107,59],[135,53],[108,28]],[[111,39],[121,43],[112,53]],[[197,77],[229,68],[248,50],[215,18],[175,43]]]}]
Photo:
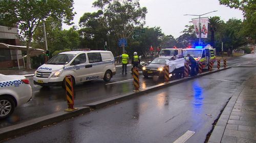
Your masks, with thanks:
[{"label": "wet near-side road reflecting blue light, between median and brick footpath", "polygon": [[[254,56],[254,57],[252,57]],[[256,74],[256,56],[230,61],[233,68],[182,82],[63,121],[7,142],[204,142],[228,99]]]}]

